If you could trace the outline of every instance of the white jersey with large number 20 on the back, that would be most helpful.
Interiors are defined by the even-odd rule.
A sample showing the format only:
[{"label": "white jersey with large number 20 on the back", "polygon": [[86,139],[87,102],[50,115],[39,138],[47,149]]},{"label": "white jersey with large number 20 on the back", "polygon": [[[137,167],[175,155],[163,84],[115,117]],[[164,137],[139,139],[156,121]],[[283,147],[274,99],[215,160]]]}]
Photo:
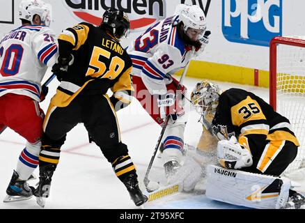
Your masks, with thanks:
[{"label": "white jersey with large number 20 on the back", "polygon": [[56,37],[47,26],[20,26],[0,41],[0,96],[27,95],[40,101],[41,80],[57,56]]}]

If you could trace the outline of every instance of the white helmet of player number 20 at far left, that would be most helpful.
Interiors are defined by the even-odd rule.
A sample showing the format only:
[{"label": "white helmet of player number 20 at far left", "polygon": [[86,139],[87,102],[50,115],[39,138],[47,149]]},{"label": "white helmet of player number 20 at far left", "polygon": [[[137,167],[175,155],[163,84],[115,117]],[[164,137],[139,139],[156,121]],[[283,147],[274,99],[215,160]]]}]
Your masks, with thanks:
[{"label": "white helmet of player number 20 at far left", "polygon": [[52,20],[52,6],[42,0],[22,0],[19,5],[19,19],[33,24],[34,15],[39,15],[41,24],[49,26]]}]

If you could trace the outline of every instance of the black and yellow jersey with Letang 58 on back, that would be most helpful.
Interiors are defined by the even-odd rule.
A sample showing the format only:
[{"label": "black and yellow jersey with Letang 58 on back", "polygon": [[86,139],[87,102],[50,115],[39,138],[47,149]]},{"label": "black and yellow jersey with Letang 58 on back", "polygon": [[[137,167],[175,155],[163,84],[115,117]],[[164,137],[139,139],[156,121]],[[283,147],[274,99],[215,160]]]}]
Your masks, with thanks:
[{"label": "black and yellow jersey with Letang 58 on back", "polygon": [[65,50],[61,43],[71,46],[74,62],[52,98],[54,105],[65,107],[79,93],[105,94],[109,88],[117,100],[131,102],[134,91],[130,77],[132,61],[114,36],[83,22],[63,31],[58,36],[58,43],[60,55],[61,50]]}]

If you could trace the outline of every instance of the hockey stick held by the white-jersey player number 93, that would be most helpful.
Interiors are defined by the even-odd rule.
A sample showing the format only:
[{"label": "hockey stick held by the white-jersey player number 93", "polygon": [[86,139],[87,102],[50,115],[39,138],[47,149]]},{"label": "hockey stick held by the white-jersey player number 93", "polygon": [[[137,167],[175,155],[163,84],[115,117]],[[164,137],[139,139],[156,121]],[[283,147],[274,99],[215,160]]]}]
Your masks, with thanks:
[{"label": "hockey stick held by the white-jersey player number 93", "polygon": [[[185,66],[185,68],[184,68],[184,70],[183,70],[183,72],[182,72],[182,75],[181,75],[181,77],[180,77],[180,81],[179,81],[179,84],[178,84],[178,87],[177,87],[177,91],[180,90],[180,88],[181,88],[181,86],[182,86],[182,81],[183,81],[183,78],[185,77],[185,75],[186,75],[186,73],[187,73],[188,68],[189,68],[189,62],[187,63],[187,65]],[[177,91],[176,91],[176,92],[177,92]],[[175,96],[176,96],[176,95],[175,95]],[[148,185],[149,185],[149,183],[150,183],[150,180],[148,179],[148,175],[149,175],[149,173],[150,173],[151,167],[153,166],[153,162],[154,162],[154,160],[155,160],[155,156],[156,156],[157,151],[158,151],[158,149],[159,149],[159,146],[160,146],[160,144],[161,144],[161,140],[162,140],[163,135],[164,135],[164,132],[165,132],[165,130],[166,130],[166,126],[167,126],[167,124],[169,123],[169,118],[170,118],[170,117],[171,117],[170,115],[166,116],[166,119],[165,119],[165,121],[164,121],[164,125],[163,125],[163,127],[162,127],[162,131],[161,131],[161,133],[160,133],[160,135],[159,135],[159,139],[158,139],[158,141],[157,141],[157,145],[155,146],[155,151],[154,151],[154,153],[153,153],[153,156],[152,156],[151,159],[150,159],[150,162],[149,162],[149,164],[148,164],[148,168],[147,168],[147,170],[146,170],[146,174],[145,174],[145,176],[144,176],[144,180],[143,180],[143,181],[144,181],[144,185],[145,185],[145,187],[146,187],[146,190],[147,190],[148,192],[153,192],[153,191],[154,191],[154,190],[151,190],[151,189],[148,188]]]}]

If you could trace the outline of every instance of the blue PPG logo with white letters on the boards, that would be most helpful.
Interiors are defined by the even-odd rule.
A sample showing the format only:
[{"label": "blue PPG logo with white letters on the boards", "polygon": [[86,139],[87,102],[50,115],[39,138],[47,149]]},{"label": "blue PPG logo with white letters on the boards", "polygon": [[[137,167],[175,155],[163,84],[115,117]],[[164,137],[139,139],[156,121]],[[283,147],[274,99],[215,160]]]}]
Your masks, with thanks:
[{"label": "blue PPG logo with white letters on the boards", "polygon": [[283,0],[222,0],[222,33],[235,43],[269,46],[282,36]]}]

